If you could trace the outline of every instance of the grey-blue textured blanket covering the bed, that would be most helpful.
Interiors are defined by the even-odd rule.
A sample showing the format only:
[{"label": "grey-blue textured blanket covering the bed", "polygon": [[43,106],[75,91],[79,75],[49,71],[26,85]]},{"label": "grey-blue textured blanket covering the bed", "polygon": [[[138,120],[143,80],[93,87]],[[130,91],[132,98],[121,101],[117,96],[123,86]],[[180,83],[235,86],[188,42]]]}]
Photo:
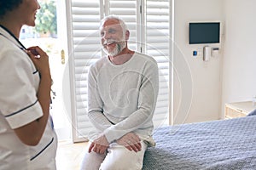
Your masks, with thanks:
[{"label": "grey-blue textured blanket covering the bed", "polygon": [[143,170],[256,170],[256,116],[160,127]]}]

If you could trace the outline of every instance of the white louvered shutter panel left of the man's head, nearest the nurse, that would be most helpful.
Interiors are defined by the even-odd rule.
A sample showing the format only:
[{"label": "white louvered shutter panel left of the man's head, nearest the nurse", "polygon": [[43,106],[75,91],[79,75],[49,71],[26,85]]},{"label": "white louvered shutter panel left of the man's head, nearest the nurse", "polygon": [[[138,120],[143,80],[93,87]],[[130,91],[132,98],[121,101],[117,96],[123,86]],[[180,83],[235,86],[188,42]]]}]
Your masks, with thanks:
[{"label": "white louvered shutter panel left of the man's head, nearest the nurse", "polygon": [[[100,0],[67,1],[69,8],[69,66],[72,88],[73,141],[86,139],[92,128],[87,116],[87,73],[89,65],[102,56],[99,25]],[[68,6],[69,5],[69,6]]]}]

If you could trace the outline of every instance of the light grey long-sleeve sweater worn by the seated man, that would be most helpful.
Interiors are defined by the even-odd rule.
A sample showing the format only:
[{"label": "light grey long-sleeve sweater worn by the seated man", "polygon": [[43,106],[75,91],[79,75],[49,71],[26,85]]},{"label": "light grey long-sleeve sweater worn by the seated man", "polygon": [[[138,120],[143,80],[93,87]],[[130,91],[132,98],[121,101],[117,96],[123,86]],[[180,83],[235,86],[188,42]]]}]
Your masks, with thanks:
[{"label": "light grey long-sleeve sweater worn by the seated man", "polygon": [[158,66],[152,57],[135,52],[123,65],[113,65],[108,56],[99,59],[88,74],[88,116],[96,127],[94,137],[103,133],[111,143],[132,132],[154,143],[152,117],[158,90]]}]

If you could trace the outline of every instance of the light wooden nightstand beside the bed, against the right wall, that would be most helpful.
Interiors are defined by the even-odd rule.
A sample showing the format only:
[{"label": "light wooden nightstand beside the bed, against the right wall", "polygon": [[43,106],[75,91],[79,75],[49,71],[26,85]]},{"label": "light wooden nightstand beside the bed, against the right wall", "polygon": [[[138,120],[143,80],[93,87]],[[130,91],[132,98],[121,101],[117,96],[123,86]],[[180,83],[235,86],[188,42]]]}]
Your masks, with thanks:
[{"label": "light wooden nightstand beside the bed, against the right wall", "polygon": [[247,114],[254,109],[256,109],[256,107],[253,106],[252,101],[225,104],[225,118],[230,119],[247,116]]}]

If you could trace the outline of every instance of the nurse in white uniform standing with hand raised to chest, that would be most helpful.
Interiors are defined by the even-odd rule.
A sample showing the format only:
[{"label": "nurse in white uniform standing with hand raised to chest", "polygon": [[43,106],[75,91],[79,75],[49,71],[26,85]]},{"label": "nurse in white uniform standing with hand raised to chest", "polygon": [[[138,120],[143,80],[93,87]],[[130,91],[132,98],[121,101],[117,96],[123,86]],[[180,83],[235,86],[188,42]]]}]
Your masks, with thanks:
[{"label": "nurse in white uniform standing with hand raised to chest", "polygon": [[0,1],[0,170],[56,169],[49,57],[18,40],[39,8],[37,0]]}]

